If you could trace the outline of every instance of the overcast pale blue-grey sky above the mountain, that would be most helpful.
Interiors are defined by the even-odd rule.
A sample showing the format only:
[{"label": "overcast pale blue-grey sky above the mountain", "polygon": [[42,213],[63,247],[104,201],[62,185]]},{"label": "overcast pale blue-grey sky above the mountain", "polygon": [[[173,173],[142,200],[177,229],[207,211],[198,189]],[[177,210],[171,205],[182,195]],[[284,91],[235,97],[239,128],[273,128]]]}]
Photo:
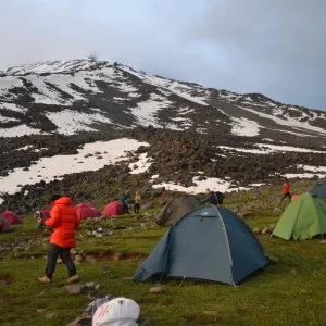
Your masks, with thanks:
[{"label": "overcast pale blue-grey sky above the mountain", "polygon": [[326,110],[326,0],[0,0],[0,70],[90,53]]}]

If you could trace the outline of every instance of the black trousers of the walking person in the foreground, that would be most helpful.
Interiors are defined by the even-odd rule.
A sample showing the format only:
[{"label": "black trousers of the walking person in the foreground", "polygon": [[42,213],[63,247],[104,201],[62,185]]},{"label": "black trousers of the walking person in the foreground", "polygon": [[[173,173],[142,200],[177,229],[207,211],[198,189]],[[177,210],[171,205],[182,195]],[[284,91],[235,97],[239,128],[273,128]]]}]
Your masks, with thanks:
[{"label": "black trousers of the walking person in the foreground", "polygon": [[55,271],[58,256],[68,269],[70,277],[76,275],[76,266],[71,258],[71,248],[61,248],[57,244],[50,243],[50,251],[48,252],[48,264],[46,267],[46,275],[52,279],[52,274]]}]

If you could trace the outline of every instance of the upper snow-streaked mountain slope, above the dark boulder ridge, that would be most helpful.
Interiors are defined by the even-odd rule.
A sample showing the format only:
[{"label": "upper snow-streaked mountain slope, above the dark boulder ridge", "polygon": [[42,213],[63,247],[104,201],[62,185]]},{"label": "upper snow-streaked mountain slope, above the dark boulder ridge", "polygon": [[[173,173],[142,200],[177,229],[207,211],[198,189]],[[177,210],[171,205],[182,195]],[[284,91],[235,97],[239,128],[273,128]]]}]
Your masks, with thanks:
[{"label": "upper snow-streaked mountain slope, above the dark boulder ridge", "polygon": [[[12,67],[0,77],[0,136],[73,135],[153,126],[201,134],[285,139],[326,137],[326,114],[105,61]],[[284,140],[285,140],[284,139]]]}]

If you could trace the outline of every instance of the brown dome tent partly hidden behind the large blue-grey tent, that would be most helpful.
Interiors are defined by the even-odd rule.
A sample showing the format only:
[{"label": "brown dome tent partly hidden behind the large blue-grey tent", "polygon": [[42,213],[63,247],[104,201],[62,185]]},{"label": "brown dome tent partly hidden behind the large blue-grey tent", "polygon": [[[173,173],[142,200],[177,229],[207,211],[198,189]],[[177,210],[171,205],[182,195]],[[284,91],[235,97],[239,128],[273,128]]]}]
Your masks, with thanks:
[{"label": "brown dome tent partly hidden behind the large blue-grey tent", "polygon": [[200,199],[192,195],[176,197],[156,215],[156,223],[161,226],[174,225],[184,215],[200,205]]}]

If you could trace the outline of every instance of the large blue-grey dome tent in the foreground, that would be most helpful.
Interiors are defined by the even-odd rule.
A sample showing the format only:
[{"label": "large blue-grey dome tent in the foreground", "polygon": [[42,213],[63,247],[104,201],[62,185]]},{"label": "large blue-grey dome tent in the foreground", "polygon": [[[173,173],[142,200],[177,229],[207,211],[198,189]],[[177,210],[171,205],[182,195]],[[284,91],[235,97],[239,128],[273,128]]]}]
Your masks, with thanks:
[{"label": "large blue-grey dome tent in the foreground", "polygon": [[137,269],[134,280],[151,276],[236,285],[268,263],[251,228],[221,206],[200,206],[165,234]]}]

